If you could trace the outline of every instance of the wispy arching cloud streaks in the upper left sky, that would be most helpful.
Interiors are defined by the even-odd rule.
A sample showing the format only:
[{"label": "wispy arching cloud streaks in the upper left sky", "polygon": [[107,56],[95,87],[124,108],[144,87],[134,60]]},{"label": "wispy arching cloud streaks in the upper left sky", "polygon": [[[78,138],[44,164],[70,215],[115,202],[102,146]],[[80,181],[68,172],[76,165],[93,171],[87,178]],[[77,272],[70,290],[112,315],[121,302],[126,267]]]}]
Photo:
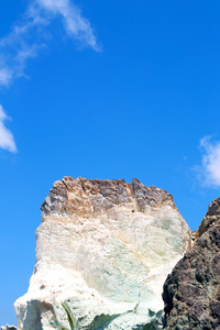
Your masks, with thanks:
[{"label": "wispy arching cloud streaks in the upper left sky", "polygon": [[96,36],[87,19],[72,0],[33,0],[9,35],[0,40],[0,86],[25,76],[24,68],[50,40],[48,25],[61,18],[64,31],[81,46],[99,51]]}]

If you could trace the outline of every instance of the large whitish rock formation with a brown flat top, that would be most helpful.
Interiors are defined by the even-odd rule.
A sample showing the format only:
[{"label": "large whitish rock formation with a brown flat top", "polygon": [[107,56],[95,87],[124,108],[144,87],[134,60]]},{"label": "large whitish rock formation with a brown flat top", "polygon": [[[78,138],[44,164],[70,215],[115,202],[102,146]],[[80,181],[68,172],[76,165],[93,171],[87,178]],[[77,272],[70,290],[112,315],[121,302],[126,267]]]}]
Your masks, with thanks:
[{"label": "large whitish rock formation with a brown flat top", "polygon": [[64,177],[42,205],[19,329],[162,327],[163,283],[190,246],[173,197],[138,179]]}]

